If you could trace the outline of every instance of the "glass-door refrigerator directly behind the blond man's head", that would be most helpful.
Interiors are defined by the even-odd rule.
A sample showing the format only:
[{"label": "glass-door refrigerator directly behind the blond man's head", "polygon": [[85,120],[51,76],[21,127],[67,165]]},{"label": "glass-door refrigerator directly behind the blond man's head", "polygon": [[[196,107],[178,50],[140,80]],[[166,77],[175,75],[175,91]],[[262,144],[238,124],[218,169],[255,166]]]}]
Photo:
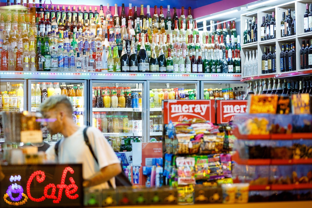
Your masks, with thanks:
[{"label": "glass-door refrigerator directly behind the blond man's head", "polygon": [[[73,107],[73,119],[78,126],[87,125],[87,81],[37,79],[28,80],[28,111],[40,112],[40,104],[48,97],[65,95]],[[52,145],[62,138],[61,133],[51,135],[43,128],[43,139]]]}]

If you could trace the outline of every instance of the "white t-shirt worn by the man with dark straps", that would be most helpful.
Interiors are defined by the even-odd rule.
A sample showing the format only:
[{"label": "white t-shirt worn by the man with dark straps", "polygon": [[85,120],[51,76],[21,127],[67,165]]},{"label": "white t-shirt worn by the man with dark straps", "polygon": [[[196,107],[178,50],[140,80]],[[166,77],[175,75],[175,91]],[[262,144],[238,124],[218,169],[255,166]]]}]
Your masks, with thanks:
[{"label": "white t-shirt worn by the man with dark straps", "polygon": [[[101,168],[120,163],[120,161],[103,136],[103,133],[97,128],[89,127],[86,133],[93,152],[98,159],[98,164],[92,156],[88,145],[85,144],[83,137],[84,129],[85,126],[80,127],[71,136],[61,139],[58,146],[58,161],[61,164],[82,163],[82,176],[86,180],[90,179],[96,172],[99,172]],[[50,146],[46,150],[46,157],[48,160],[58,162],[55,154],[55,145]],[[115,177],[110,179],[110,182],[115,187]],[[100,184],[100,186],[94,186],[94,188],[109,188],[109,185],[105,182]]]}]

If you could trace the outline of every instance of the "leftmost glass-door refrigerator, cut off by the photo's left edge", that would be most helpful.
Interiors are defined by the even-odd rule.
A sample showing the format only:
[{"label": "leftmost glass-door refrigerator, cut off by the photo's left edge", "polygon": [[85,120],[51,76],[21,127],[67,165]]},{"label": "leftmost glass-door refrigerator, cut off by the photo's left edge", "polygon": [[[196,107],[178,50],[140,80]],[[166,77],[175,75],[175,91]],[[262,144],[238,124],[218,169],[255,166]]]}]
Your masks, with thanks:
[{"label": "leftmost glass-door refrigerator, cut off by the photo's left edge", "polygon": [[27,109],[26,80],[1,79],[0,80],[0,144],[5,142],[3,134],[2,112]]}]

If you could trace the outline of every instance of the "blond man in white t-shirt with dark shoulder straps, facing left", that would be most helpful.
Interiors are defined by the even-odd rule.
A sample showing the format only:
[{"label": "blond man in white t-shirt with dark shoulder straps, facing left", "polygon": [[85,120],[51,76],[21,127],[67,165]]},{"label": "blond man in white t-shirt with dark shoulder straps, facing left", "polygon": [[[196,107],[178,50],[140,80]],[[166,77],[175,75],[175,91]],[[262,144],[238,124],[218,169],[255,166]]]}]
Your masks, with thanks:
[{"label": "blond man in white t-shirt with dark shoulder straps, facing left", "polygon": [[41,113],[46,119],[43,125],[51,135],[63,134],[58,145],[58,155],[56,156],[55,153],[55,145],[50,146],[46,150],[47,159],[59,163],[82,163],[85,187],[109,188],[107,181],[110,180],[115,188],[115,176],[121,172],[121,166],[103,133],[92,127],[89,127],[86,132],[95,157],[98,159],[97,163],[85,143],[83,136],[85,127],[78,127],[74,123],[72,105],[66,96],[56,95],[47,98],[41,104]]}]

